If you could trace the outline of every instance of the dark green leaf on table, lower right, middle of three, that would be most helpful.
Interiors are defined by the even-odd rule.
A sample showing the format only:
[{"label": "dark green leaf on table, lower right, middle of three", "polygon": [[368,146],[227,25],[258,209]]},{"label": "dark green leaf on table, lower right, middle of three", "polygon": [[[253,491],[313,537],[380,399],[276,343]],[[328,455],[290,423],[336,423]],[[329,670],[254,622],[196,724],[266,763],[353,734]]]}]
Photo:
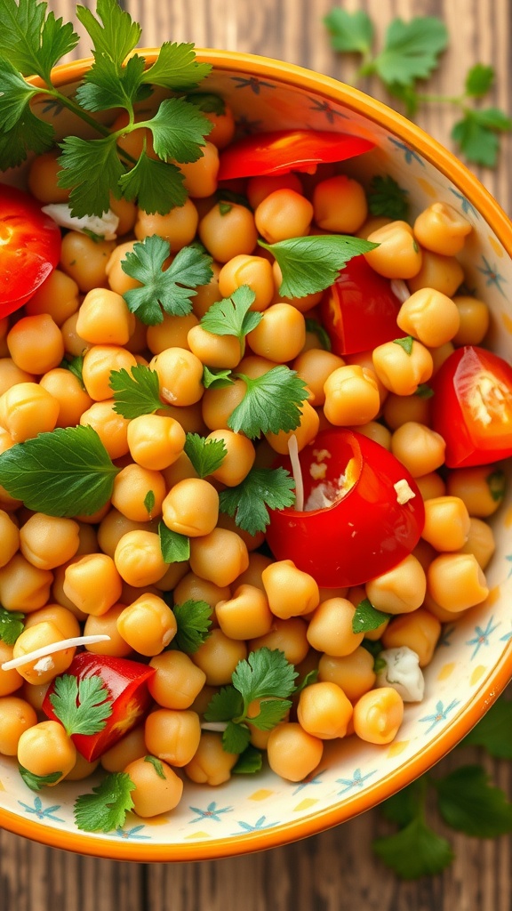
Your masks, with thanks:
[{"label": "dark green leaf on table, lower right, middle of three", "polygon": [[512,832],[512,804],[489,784],[481,765],[464,765],[434,779],[439,813],[458,832],[476,838],[496,838]]}]

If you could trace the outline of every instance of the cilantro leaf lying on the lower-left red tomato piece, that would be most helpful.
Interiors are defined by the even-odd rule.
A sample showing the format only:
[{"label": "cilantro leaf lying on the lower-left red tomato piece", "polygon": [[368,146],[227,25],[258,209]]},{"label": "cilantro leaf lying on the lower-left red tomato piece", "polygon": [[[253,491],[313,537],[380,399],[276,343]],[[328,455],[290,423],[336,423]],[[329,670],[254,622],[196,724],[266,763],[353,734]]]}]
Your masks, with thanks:
[{"label": "cilantro leaf lying on the lower-left red tomato piece", "polygon": [[50,702],[68,737],[103,731],[112,714],[110,693],[100,677],[56,677]]}]

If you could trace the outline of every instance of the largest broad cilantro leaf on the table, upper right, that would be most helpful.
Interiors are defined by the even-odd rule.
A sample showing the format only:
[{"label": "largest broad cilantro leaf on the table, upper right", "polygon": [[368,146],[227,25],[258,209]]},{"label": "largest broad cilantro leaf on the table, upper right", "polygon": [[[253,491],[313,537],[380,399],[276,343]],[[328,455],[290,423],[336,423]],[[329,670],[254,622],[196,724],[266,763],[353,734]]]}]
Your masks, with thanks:
[{"label": "largest broad cilantro leaf on the table, upper right", "polygon": [[374,57],[374,72],[384,83],[411,85],[415,79],[430,76],[447,44],[445,23],[436,16],[419,15],[410,22],[393,19],[385,34],[383,50]]}]

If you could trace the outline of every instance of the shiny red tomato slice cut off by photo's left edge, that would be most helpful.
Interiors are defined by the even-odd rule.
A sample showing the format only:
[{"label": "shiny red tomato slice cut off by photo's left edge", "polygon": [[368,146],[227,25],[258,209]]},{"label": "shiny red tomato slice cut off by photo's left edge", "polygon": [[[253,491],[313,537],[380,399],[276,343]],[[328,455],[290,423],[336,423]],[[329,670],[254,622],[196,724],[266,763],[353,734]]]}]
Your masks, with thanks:
[{"label": "shiny red tomato slice cut off by photo's left edge", "polygon": [[23,306],[56,267],[61,234],[36,200],[0,184],[0,317]]}]

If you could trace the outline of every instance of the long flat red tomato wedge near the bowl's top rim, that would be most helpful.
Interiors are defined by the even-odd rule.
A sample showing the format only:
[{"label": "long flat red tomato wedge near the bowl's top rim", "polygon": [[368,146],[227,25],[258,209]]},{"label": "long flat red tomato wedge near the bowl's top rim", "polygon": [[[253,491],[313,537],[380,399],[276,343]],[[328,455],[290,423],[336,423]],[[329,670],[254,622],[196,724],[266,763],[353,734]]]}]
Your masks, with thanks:
[{"label": "long flat red tomato wedge near the bowl's top rim", "polygon": [[255,133],[233,142],[220,155],[219,179],[259,177],[261,174],[314,174],[317,165],[343,161],[374,148],[374,142],[346,133],[315,129],[278,129]]}]

